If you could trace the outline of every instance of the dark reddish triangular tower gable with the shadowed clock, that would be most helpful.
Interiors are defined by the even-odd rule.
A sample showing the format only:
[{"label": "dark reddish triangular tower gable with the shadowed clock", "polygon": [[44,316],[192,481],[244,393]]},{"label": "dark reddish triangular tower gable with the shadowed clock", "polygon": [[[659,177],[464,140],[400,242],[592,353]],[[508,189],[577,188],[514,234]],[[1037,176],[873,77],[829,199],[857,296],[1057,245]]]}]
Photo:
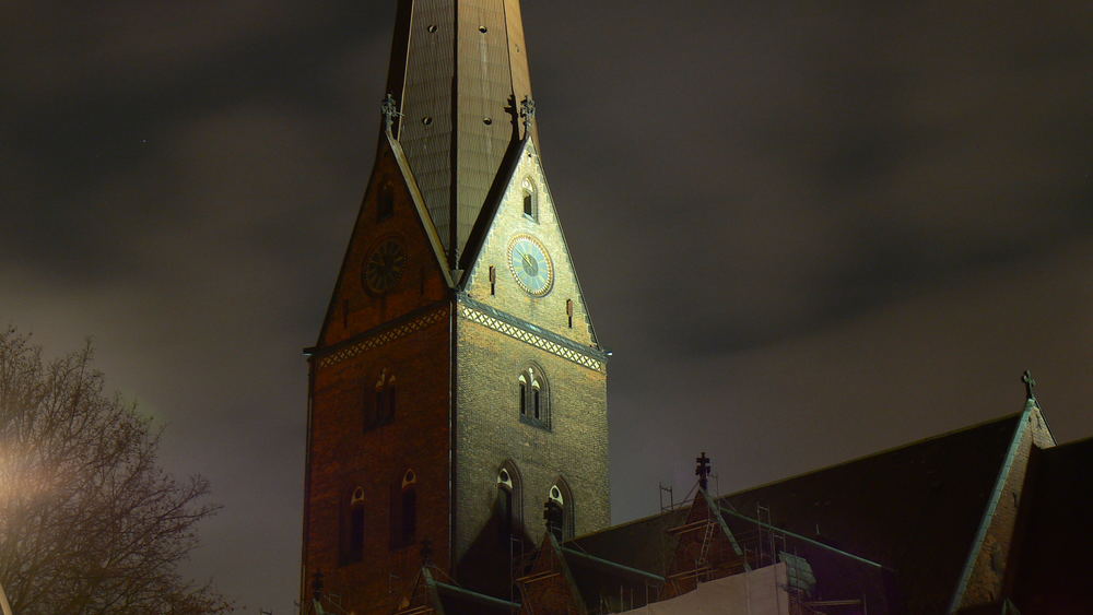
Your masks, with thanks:
[{"label": "dark reddish triangular tower gable with the shadowed clock", "polygon": [[[375,264],[385,259],[400,262],[397,275],[376,272]],[[420,190],[401,147],[388,135],[380,140],[318,345],[337,344],[442,300],[450,286]]]}]

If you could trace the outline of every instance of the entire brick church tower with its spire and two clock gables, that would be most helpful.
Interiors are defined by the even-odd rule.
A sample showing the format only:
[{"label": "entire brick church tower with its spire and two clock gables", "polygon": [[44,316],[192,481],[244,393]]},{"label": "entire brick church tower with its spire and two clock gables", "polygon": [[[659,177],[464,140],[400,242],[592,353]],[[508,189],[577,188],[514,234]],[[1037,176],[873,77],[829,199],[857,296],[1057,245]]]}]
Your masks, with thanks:
[{"label": "entire brick church tower with its spire and two clock gables", "polygon": [[[519,0],[400,0],[375,167],[307,350],[302,598],[390,613],[424,560],[604,528],[607,353],[539,153]],[[321,573],[321,575],[320,575]]]}]

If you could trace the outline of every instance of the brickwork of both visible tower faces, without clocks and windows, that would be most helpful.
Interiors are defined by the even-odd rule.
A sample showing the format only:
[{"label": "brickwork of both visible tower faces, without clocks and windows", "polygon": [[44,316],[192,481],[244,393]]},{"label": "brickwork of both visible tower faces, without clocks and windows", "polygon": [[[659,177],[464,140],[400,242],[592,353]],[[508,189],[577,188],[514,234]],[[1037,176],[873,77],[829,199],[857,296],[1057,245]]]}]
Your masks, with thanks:
[{"label": "brickwork of both visible tower faces, without clocks and windows", "polygon": [[[536,186],[537,220],[524,215],[525,180]],[[393,187],[395,215],[379,220],[376,203],[384,186]],[[386,144],[381,146],[336,284],[321,347],[312,358],[305,599],[312,576],[321,570],[327,591],[341,596],[344,611],[391,610],[421,564],[418,545],[392,548],[390,541],[397,496],[392,485],[411,468],[418,474],[416,540],[432,540],[433,560],[443,568],[457,561],[456,578],[475,589],[498,594],[507,590],[508,551],[494,508],[497,472],[505,462],[519,472],[516,504],[529,546],[542,537],[542,507],[555,484],[569,490],[567,508],[576,533],[609,524],[606,364],[533,149],[521,156],[508,192],[471,270],[468,294],[524,321],[527,330],[538,327],[571,340],[596,360],[581,365],[572,356],[460,318],[458,299],[447,287],[397,161]],[[508,270],[508,243],[520,233],[538,237],[551,255],[553,285],[543,297],[524,292]],[[361,282],[362,265],[389,237],[404,245],[408,265],[398,286],[374,296]],[[493,293],[490,265],[496,272]],[[540,369],[549,383],[549,428],[520,421],[517,377],[529,366]],[[398,413],[391,424],[365,430],[363,409],[385,369],[397,378]],[[349,497],[357,486],[365,492],[364,555],[360,563],[344,564],[339,549]]]}]

